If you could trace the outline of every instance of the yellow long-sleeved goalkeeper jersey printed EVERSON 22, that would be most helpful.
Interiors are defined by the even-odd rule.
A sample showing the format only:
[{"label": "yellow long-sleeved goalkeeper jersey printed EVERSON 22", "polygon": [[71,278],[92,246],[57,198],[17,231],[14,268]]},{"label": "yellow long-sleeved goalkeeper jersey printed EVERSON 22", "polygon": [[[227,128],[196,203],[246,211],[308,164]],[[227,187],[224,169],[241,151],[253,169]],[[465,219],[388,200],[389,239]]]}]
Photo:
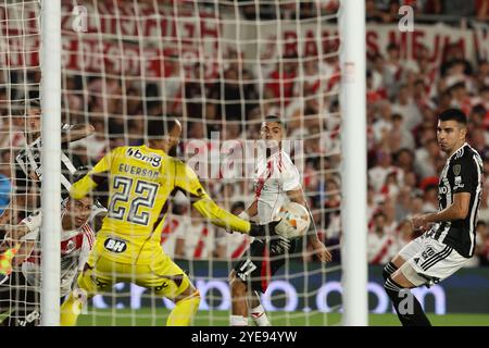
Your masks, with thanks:
[{"label": "yellow long-sleeved goalkeeper jersey printed EVERSON 22", "polygon": [[190,194],[193,206],[216,225],[247,233],[248,222],[224,211],[208,196],[196,173],[184,162],[147,146],[120,147],[105,154],[71,189],[85,197],[109,172],[108,214],[92,252],[116,262],[149,264],[162,252],[161,226],[174,190]]}]

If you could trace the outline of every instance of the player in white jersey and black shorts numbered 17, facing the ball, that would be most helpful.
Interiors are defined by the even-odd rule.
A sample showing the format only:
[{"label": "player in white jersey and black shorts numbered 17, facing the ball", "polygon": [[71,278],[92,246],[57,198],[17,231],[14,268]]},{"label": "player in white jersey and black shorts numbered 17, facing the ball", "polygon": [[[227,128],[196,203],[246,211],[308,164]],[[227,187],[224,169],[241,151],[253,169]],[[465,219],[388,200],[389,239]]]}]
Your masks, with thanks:
[{"label": "player in white jersey and black shorts numbered 17, facing the ball", "polygon": [[[279,208],[288,200],[308,207],[300,184],[300,175],[289,154],[281,148],[286,135],[285,124],[277,116],[267,116],[262,124],[261,137],[266,142],[266,154],[258,159],[254,173],[254,200],[239,215],[259,225],[269,224]],[[233,310],[231,326],[248,325],[250,315],[259,326],[269,326],[269,321],[259,293],[265,293],[269,278],[281,268],[288,256],[293,253],[294,244],[285,238],[256,238],[249,250],[230,272]],[[317,238],[314,228],[308,241],[323,262],[331,254]]]}]

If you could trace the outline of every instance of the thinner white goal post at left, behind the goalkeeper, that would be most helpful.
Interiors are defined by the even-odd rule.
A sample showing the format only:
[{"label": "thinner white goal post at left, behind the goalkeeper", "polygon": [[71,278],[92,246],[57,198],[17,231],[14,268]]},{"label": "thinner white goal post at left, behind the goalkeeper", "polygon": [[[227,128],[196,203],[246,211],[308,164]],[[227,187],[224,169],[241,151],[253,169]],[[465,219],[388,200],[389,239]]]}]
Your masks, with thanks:
[{"label": "thinner white goal post at left, behind the goalkeeper", "polygon": [[61,0],[41,2],[41,324],[60,324]]}]

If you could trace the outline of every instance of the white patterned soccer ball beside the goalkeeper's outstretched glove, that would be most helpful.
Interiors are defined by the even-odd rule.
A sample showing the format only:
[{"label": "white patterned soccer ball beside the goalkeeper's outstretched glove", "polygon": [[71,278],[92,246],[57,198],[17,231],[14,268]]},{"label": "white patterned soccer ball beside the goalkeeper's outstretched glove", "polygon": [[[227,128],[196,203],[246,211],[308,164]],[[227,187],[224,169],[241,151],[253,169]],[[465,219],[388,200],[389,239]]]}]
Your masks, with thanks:
[{"label": "white patterned soccer ball beside the goalkeeper's outstretched glove", "polygon": [[289,239],[303,236],[311,224],[308,209],[296,202],[281,206],[274,220],[279,219],[281,221],[275,226],[275,232]]}]

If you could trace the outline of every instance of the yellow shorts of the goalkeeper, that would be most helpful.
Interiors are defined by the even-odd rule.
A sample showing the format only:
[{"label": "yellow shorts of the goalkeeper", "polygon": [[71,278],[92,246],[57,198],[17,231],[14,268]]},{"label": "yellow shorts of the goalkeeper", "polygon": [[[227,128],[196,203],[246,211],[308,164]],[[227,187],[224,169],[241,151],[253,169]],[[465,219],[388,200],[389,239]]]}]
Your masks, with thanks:
[{"label": "yellow shorts of the goalkeeper", "polygon": [[150,264],[128,264],[108,260],[103,254],[90,254],[84,272],[78,276],[78,286],[91,297],[111,291],[115,283],[135,283],[154,294],[174,299],[190,285],[187,274],[165,253],[154,258]]}]

